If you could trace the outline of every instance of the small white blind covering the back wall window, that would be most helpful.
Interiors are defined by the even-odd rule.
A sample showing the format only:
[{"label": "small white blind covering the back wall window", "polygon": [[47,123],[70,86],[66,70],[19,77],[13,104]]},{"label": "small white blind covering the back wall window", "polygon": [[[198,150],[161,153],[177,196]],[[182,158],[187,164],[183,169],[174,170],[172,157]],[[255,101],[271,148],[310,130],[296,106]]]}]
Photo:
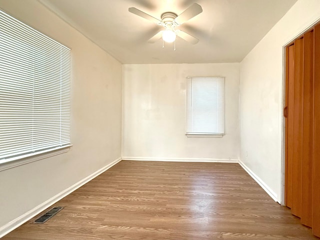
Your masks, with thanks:
[{"label": "small white blind covering the back wall window", "polygon": [[186,134],[224,134],[224,77],[187,78]]}]

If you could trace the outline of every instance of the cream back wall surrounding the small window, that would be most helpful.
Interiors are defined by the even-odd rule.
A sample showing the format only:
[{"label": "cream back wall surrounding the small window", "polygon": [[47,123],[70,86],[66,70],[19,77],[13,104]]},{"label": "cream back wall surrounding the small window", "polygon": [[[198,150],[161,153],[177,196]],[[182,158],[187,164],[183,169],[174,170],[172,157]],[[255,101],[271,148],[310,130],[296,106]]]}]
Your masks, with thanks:
[{"label": "cream back wall surrounding the small window", "polygon": [[[238,66],[123,65],[122,157],[238,159]],[[185,136],[186,76],[225,76],[226,134],[222,138]]]}]

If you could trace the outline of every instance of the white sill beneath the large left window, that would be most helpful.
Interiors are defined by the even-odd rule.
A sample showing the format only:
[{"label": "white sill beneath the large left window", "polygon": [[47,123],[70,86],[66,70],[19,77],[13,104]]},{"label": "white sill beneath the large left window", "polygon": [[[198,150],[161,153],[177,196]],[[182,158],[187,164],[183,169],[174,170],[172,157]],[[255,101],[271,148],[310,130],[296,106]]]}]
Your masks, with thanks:
[{"label": "white sill beneath the large left window", "polygon": [[18,157],[4,160],[3,162],[0,163],[0,171],[65,153],[65,152],[69,151],[71,146],[72,145],[70,144],[70,145],[66,145],[66,146],[62,146],[62,147],[56,147],[53,149],[38,151],[35,153],[25,154],[23,156],[18,156]]}]

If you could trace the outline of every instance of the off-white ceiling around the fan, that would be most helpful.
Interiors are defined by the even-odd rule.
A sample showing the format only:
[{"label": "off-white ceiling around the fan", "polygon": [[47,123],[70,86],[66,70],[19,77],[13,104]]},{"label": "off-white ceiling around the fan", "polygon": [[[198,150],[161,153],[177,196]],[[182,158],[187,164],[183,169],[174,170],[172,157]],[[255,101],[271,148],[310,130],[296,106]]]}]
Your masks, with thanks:
[{"label": "off-white ceiling around the fan", "polygon": [[[121,63],[239,62],[296,0],[40,0]],[[203,12],[181,29],[197,37],[190,44],[147,40],[162,29],[132,14],[136,7],[158,19],[161,13],[180,14],[192,3]]]}]

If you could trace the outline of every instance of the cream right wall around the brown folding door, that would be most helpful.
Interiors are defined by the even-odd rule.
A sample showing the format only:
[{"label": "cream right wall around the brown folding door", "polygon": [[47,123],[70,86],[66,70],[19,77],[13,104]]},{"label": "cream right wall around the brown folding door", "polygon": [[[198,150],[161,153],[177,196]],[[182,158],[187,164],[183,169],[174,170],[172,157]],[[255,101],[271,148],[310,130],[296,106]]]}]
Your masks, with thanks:
[{"label": "cream right wall around the brown folding door", "polygon": [[279,202],[283,46],[319,18],[319,0],[298,0],[240,63],[240,160]]}]

